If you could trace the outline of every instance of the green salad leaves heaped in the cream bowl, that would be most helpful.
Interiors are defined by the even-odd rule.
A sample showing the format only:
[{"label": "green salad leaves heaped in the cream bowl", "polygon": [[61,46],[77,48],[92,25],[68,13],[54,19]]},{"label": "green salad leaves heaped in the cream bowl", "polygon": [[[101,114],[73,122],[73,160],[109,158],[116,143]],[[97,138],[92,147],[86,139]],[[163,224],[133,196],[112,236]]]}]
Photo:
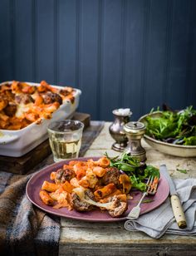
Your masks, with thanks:
[{"label": "green salad leaves heaped in the cream bowl", "polygon": [[193,106],[179,112],[160,111],[160,114],[145,118],[146,135],[177,145],[196,145],[196,110]]}]

